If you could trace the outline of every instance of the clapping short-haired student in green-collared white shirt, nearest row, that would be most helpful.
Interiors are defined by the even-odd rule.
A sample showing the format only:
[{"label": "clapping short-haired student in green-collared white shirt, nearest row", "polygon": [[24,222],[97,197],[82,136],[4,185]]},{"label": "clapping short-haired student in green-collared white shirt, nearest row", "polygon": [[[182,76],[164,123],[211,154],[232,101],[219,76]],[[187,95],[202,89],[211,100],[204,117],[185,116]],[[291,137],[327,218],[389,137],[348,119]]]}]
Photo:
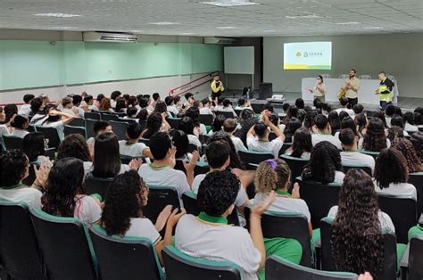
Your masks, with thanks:
[{"label": "clapping short-haired student in green-collared white shirt, nearest row", "polygon": [[264,279],[262,269],[271,255],[298,264],[302,247],[296,240],[263,238],[261,214],[275,200],[273,192],[251,210],[250,233],[241,226],[228,225],[239,187],[239,180],[229,171],[213,171],[204,177],[197,195],[200,215],[179,219],[175,231],[178,250],[197,258],[232,261],[242,269],[243,279]]}]

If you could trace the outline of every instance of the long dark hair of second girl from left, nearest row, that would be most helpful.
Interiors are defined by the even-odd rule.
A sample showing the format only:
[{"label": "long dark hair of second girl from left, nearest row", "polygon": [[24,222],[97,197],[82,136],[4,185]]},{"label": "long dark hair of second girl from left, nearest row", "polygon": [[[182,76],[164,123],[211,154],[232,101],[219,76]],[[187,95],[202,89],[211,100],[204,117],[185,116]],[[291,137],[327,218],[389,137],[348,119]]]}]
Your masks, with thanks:
[{"label": "long dark hair of second girl from left, nearest row", "polygon": [[59,217],[73,217],[77,194],[84,191],[84,164],[79,159],[55,161],[48,174],[46,193],[41,197],[42,210]]}]

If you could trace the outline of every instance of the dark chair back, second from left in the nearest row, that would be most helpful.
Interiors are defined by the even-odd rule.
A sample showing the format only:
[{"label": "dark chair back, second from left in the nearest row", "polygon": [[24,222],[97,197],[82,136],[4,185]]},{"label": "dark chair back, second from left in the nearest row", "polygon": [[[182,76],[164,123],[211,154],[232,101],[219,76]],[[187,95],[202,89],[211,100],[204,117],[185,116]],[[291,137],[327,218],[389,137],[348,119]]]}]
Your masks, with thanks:
[{"label": "dark chair back, second from left in the nearest row", "polygon": [[31,218],[50,279],[97,279],[87,229],[77,218],[32,209]]}]

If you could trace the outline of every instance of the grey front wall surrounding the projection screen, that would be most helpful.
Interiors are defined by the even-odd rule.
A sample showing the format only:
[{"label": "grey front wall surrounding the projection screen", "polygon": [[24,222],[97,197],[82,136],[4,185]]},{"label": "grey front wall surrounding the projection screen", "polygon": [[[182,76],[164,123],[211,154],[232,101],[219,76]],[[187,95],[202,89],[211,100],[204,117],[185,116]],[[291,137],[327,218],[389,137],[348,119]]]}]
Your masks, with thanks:
[{"label": "grey front wall surrounding the projection screen", "polygon": [[[332,42],[332,70],[283,70],[283,45],[292,42]],[[333,78],[355,69],[377,77],[386,71],[398,81],[400,96],[423,98],[423,34],[333,37],[264,37],[263,81],[275,92],[301,92],[301,79],[328,73]]]}]

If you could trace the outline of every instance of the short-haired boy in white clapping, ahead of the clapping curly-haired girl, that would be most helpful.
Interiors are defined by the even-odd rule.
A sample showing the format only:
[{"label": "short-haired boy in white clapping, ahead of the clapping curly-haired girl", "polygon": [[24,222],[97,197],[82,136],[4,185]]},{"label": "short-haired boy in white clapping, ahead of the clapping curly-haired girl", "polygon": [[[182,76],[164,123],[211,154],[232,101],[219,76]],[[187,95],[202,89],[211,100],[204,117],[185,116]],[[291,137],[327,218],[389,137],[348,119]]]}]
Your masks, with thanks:
[{"label": "short-haired boy in white clapping, ahead of the clapping curly-haired girl", "polygon": [[173,169],[175,166],[176,149],[172,147],[170,136],[165,132],[156,132],[150,138],[150,151],[153,154],[153,163],[143,164],[138,174],[145,184],[154,186],[173,186],[177,189],[179,197],[191,190],[190,185],[194,181],[195,164],[198,161],[198,152],[193,152],[193,159],[184,163],[187,176],[180,170]]}]

